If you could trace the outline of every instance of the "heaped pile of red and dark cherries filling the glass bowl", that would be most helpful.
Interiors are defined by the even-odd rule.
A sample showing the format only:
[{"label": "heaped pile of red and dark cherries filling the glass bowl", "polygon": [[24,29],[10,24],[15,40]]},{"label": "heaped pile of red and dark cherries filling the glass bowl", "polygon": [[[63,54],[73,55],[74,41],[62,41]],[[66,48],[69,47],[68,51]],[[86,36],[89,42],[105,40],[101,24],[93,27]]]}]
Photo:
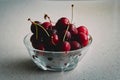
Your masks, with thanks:
[{"label": "heaped pile of red and dark cherries filling the glass bowl", "polygon": [[89,43],[88,29],[85,26],[76,27],[66,17],[60,18],[54,25],[51,21],[31,23],[33,35],[30,41],[35,49],[71,51],[85,47]]}]

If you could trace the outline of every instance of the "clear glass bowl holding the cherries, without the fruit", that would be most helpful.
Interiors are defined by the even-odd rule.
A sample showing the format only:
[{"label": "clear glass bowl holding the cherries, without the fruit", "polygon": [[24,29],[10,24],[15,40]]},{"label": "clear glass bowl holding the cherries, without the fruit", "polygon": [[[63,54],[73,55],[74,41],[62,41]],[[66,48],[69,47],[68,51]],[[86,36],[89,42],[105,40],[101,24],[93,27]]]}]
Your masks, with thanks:
[{"label": "clear glass bowl holding the cherries, without the fruit", "polygon": [[42,51],[32,47],[30,37],[32,33],[24,37],[24,44],[34,61],[34,63],[43,70],[49,71],[69,71],[74,69],[78,62],[87,53],[91,43],[92,37],[89,35],[89,44],[81,49],[67,52],[57,51]]}]

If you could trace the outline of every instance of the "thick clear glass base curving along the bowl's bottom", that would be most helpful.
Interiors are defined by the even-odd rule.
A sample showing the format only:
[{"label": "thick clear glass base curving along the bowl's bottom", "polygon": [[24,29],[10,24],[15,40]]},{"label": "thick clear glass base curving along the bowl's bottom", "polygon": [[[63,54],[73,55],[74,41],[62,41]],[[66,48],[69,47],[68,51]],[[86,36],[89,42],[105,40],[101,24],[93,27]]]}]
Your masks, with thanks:
[{"label": "thick clear glass base curving along the bowl's bottom", "polygon": [[70,71],[70,70],[74,69],[77,66],[77,64],[78,64],[79,59],[77,57],[77,58],[73,59],[72,62],[67,63],[65,66],[62,66],[62,65],[59,65],[59,66],[48,66],[43,61],[40,61],[40,59],[37,58],[37,57],[34,58],[33,61],[39,68],[41,68],[43,70],[61,72],[61,71]]}]

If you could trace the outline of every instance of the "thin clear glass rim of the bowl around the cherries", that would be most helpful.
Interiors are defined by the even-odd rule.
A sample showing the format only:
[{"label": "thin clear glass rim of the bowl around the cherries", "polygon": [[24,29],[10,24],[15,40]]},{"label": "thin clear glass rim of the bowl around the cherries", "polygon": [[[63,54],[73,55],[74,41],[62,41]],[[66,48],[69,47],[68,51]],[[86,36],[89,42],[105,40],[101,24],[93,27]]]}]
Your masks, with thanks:
[{"label": "thin clear glass rim of the bowl around the cherries", "polygon": [[[24,39],[23,39],[23,42],[24,42],[25,46],[26,46],[28,49],[31,49],[31,50],[34,50],[34,51],[40,51],[40,52],[44,52],[44,53],[65,53],[65,52],[66,52],[66,51],[43,51],[43,50],[38,50],[38,49],[35,49],[35,48],[33,48],[33,47],[30,47],[30,46],[26,45],[26,38],[27,38],[29,35],[32,35],[32,34],[31,34],[31,33],[28,33],[28,34],[24,37]],[[68,52],[68,53],[72,53],[72,52],[75,52],[75,51],[81,51],[82,49],[85,49],[85,48],[89,47],[89,46],[92,44],[92,42],[93,42],[93,38],[92,38],[92,36],[91,36],[90,34],[88,34],[88,36],[89,36],[89,44],[88,44],[87,46],[82,47],[82,48],[77,49],[77,50],[71,50],[71,51],[67,51],[67,52]],[[29,42],[30,42],[30,40],[29,40]]]}]

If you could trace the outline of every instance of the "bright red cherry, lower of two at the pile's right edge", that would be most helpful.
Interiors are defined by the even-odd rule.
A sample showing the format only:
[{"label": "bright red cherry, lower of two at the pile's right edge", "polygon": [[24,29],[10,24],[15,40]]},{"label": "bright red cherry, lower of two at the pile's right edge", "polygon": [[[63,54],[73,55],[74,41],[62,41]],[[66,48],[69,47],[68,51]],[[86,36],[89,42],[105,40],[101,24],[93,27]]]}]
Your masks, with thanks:
[{"label": "bright red cherry, lower of two at the pile's right edge", "polygon": [[85,33],[81,32],[81,33],[78,33],[78,41],[84,47],[88,44],[89,39],[88,39],[88,36]]}]

